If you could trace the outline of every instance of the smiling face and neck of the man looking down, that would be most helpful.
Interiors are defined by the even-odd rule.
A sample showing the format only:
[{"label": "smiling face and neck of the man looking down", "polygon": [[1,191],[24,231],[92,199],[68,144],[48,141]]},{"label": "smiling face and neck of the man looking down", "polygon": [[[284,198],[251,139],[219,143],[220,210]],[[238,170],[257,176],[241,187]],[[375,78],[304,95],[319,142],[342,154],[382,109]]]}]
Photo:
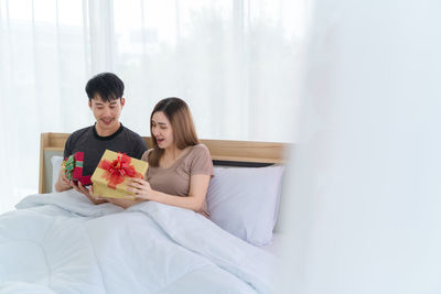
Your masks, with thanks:
[{"label": "smiling face and neck of the man looking down", "polygon": [[103,101],[99,94],[96,94],[95,97],[89,100],[89,107],[97,121],[97,131],[111,133],[118,130],[119,116],[121,115],[125,102],[125,98]]}]

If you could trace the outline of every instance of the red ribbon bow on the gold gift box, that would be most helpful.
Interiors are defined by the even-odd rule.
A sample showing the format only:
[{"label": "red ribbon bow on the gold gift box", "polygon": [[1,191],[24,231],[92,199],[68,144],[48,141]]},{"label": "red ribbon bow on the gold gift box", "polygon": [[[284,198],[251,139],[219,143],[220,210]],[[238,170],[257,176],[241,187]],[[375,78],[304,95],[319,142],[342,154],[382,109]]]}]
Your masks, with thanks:
[{"label": "red ribbon bow on the gold gift box", "polygon": [[111,162],[108,160],[101,160],[99,162],[98,167],[107,171],[107,173],[104,173],[101,177],[107,179],[107,186],[109,188],[116,189],[117,185],[121,184],[126,176],[142,178],[142,175],[135,170],[135,166],[130,165],[130,156],[118,152],[116,160]]}]

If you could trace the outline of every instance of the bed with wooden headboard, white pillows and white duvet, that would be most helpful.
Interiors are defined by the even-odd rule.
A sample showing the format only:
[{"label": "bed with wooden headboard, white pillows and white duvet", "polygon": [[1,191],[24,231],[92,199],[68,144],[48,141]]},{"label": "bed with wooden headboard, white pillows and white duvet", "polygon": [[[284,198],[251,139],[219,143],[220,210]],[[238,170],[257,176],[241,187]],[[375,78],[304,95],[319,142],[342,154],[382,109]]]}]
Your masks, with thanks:
[{"label": "bed with wooden headboard, white pillows and white duvet", "polygon": [[67,137],[41,135],[39,194],[0,216],[1,293],[273,292],[286,144],[201,140],[215,164],[208,220],[153,202],[122,209],[53,193]]}]

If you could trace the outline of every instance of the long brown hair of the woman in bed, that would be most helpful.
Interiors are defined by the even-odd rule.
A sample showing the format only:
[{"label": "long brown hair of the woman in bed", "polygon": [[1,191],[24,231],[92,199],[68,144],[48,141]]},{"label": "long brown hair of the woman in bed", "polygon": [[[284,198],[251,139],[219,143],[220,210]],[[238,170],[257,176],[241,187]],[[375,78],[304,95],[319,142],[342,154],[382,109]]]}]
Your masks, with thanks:
[{"label": "long brown hair of the woman in bed", "polygon": [[152,133],[152,118],[153,113],[158,111],[162,111],[169,119],[173,130],[174,144],[178,149],[183,150],[186,146],[197,145],[200,143],[192,113],[185,101],[176,97],[162,99],[153,108],[150,116],[150,135],[153,142],[153,150],[150,151],[147,160],[151,166],[159,166],[159,161],[164,154],[164,150],[159,148],[157,139]]}]

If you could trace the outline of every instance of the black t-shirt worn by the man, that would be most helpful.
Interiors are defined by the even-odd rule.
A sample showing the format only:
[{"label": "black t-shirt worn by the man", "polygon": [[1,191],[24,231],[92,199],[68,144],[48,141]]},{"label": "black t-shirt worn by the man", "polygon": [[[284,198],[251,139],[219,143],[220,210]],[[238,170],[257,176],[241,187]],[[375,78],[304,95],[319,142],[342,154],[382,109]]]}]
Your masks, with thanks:
[{"label": "black t-shirt worn by the man", "polygon": [[122,127],[108,137],[100,137],[95,126],[73,132],[64,145],[64,159],[75,152],[84,152],[83,176],[92,175],[106,149],[126,153],[140,160],[147,150],[144,140],[136,132]]}]

